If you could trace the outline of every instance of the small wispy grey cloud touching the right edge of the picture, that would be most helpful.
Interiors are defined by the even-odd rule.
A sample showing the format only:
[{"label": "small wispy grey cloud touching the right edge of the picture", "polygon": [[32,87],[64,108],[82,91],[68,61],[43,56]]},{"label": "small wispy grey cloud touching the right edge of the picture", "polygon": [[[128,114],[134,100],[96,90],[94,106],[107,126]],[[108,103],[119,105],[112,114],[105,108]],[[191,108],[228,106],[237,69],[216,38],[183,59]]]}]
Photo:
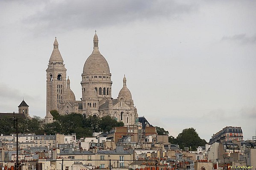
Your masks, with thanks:
[{"label": "small wispy grey cloud touching the right edge of the picture", "polygon": [[255,44],[256,36],[248,37],[246,34],[237,34],[233,36],[224,36],[221,39],[222,41],[235,41],[241,44]]}]

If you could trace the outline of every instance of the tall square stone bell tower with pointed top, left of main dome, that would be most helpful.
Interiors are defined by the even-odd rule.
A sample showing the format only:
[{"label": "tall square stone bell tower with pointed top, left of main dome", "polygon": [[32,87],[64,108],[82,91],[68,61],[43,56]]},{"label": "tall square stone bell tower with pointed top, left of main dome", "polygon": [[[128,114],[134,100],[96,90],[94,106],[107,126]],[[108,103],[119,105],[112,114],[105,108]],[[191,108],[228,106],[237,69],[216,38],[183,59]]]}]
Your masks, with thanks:
[{"label": "tall square stone bell tower with pointed top, left of main dome", "polygon": [[59,52],[59,43],[55,37],[53,52],[46,69],[46,113],[52,110],[59,111],[64,90],[67,88],[66,72]]}]

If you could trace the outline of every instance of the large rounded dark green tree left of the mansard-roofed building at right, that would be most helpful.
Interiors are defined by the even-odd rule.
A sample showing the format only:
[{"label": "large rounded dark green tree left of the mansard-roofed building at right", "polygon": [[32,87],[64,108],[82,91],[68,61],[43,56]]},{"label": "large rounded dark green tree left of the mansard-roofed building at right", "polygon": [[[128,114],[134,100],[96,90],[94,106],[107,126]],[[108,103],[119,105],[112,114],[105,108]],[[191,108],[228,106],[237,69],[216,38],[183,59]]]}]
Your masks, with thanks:
[{"label": "large rounded dark green tree left of the mansard-roofed building at right", "polygon": [[198,136],[198,133],[193,127],[183,129],[177,136],[177,143],[180,148],[191,147],[191,150],[196,150],[198,146],[206,144],[204,139]]}]

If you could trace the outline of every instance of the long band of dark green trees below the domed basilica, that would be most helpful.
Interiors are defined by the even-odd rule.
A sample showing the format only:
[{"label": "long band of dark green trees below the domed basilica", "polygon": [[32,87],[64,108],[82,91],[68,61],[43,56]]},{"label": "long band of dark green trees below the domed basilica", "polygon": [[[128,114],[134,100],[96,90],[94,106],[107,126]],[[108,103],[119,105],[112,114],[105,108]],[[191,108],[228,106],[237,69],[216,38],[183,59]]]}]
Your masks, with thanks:
[{"label": "long band of dark green trees below the domed basilica", "polygon": [[[123,122],[118,122],[110,116],[103,118],[89,116],[86,118],[79,113],[62,116],[55,110],[50,111],[50,113],[55,117],[53,123],[43,124],[43,119],[39,116],[33,116],[32,119],[20,119],[18,121],[18,133],[35,133],[38,135],[44,133],[49,135],[76,133],[79,139],[80,137],[92,136],[92,132],[106,132],[113,127],[124,126]],[[16,133],[13,121],[0,120],[0,133]]]}]

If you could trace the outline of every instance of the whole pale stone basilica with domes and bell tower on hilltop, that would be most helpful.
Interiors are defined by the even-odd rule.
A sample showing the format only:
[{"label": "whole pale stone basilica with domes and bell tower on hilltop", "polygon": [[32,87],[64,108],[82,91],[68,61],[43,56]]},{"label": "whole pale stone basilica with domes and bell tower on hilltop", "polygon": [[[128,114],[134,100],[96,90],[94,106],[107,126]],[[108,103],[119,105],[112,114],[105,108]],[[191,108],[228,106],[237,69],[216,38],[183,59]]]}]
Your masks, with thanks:
[{"label": "whole pale stone basilica with domes and bell tower on hilltop", "polygon": [[53,44],[53,52],[49,60],[47,72],[47,113],[57,110],[59,114],[81,113],[84,116],[112,116],[124,125],[134,125],[138,121],[137,109],[132,94],[127,88],[124,76],[123,88],[117,99],[112,98],[112,81],[109,64],[100,54],[99,40],[94,35],[93,52],[86,59],[82,72],[82,98],[76,101],[70,88],[70,80],[66,80],[66,68],[59,52],[57,40]]}]

